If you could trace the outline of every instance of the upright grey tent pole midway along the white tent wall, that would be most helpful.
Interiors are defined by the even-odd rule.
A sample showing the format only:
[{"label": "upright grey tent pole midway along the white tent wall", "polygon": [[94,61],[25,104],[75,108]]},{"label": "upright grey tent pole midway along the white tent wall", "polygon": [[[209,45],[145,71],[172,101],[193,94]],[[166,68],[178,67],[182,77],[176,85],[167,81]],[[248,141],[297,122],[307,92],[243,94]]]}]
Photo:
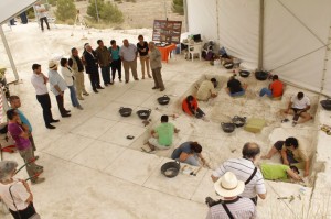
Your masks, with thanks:
[{"label": "upright grey tent pole midway along the white tent wall", "polygon": [[265,21],[265,0],[259,0],[259,39],[258,39],[258,70],[264,67],[264,21]]}]

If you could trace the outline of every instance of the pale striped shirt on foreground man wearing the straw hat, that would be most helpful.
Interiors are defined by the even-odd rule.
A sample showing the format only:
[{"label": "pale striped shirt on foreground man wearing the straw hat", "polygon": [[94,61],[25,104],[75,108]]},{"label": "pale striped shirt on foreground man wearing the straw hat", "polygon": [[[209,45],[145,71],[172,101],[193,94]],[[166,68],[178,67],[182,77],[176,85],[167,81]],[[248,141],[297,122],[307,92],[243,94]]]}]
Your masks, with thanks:
[{"label": "pale striped shirt on foreground man wearing the straw hat", "polygon": [[[256,218],[256,208],[249,198],[239,198],[238,200],[226,200],[226,207],[235,219]],[[222,204],[210,208],[206,219],[229,219]]]}]

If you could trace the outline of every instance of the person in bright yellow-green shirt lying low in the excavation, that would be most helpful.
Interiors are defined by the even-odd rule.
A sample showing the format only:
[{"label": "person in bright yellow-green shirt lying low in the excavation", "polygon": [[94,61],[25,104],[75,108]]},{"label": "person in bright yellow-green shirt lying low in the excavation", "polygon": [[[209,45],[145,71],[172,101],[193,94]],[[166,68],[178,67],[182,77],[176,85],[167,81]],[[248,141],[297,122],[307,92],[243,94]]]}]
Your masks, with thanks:
[{"label": "person in bright yellow-green shirt lying low in the excavation", "polygon": [[296,166],[282,164],[260,164],[259,168],[265,179],[268,180],[302,180]]}]

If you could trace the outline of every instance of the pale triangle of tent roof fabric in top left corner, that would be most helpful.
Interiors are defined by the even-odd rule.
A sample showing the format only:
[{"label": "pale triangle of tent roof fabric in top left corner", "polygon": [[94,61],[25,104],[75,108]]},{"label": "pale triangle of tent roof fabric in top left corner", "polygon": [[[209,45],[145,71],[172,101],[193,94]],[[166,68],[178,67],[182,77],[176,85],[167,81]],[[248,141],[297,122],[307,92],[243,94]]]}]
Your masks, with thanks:
[{"label": "pale triangle of tent roof fabric in top left corner", "polygon": [[36,0],[1,0],[0,1],[0,24],[6,23],[15,14],[32,7]]}]

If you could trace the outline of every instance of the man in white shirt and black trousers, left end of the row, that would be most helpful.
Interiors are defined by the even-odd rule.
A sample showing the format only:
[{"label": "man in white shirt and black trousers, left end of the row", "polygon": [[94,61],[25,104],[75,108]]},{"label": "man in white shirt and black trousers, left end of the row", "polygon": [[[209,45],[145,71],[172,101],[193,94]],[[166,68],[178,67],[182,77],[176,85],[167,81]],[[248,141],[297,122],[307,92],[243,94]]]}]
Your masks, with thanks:
[{"label": "man in white shirt and black trousers, left end of the row", "polygon": [[33,75],[31,77],[31,83],[35,89],[36,100],[43,108],[43,117],[45,121],[45,125],[47,129],[55,129],[51,123],[58,122],[60,120],[53,119],[51,111],[51,98],[47,90],[47,81],[49,78],[41,72],[41,65],[33,64],[32,65]]}]

